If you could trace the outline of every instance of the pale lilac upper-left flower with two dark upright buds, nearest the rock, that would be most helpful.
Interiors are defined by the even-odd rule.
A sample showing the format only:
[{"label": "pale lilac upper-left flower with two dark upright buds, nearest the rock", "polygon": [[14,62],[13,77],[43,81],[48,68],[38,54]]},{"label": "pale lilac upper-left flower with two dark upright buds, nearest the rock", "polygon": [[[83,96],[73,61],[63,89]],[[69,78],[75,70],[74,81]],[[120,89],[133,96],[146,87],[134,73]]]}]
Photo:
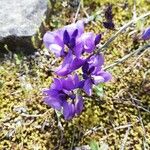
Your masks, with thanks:
[{"label": "pale lilac upper-left flower with two dark upright buds, nearest the rock", "polygon": [[[78,21],[52,32],[46,32],[43,42],[56,57],[64,57],[69,50],[76,46],[76,38],[84,32],[83,21]],[[76,48],[77,50],[77,48]]]}]

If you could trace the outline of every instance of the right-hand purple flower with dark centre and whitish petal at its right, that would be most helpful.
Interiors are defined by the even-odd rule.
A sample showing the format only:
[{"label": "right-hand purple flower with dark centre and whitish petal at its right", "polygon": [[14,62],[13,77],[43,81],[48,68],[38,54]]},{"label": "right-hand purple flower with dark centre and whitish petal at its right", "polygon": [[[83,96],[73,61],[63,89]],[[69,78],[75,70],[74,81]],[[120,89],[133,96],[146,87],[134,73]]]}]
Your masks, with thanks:
[{"label": "right-hand purple flower with dark centre and whitish petal at its right", "polygon": [[111,79],[111,74],[102,69],[104,58],[101,54],[91,56],[82,67],[83,71],[83,89],[88,94],[92,94],[93,84],[98,85],[101,82],[107,82]]}]

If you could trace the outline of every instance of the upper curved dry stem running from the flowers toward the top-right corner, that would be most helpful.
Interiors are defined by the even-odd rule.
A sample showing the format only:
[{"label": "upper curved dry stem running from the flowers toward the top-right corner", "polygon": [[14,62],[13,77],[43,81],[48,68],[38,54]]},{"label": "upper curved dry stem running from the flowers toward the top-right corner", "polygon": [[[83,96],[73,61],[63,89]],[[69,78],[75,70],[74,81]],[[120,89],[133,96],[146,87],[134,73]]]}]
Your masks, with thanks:
[{"label": "upper curved dry stem running from the flowers toward the top-right corner", "polygon": [[102,49],[106,49],[110,43],[120,34],[122,33],[125,29],[127,29],[129,26],[131,26],[133,23],[136,23],[138,20],[141,20],[145,17],[148,17],[150,16],[150,12],[146,13],[146,14],[143,14],[135,19],[132,19],[131,21],[129,21],[127,24],[125,24],[124,26],[122,26],[120,28],[119,31],[117,31],[106,43],[104,43],[104,45],[102,45],[102,47],[99,48],[98,51],[102,51]]}]

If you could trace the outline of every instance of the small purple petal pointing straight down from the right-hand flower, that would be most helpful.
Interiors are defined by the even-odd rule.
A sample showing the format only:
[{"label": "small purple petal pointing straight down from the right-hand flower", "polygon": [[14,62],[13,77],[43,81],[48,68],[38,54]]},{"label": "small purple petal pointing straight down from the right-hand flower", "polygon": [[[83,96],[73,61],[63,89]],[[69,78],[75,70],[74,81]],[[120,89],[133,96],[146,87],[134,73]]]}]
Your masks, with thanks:
[{"label": "small purple petal pointing straight down from the right-hand flower", "polygon": [[86,92],[86,94],[88,94],[89,96],[92,95],[92,81],[91,81],[91,79],[85,80],[83,89]]}]

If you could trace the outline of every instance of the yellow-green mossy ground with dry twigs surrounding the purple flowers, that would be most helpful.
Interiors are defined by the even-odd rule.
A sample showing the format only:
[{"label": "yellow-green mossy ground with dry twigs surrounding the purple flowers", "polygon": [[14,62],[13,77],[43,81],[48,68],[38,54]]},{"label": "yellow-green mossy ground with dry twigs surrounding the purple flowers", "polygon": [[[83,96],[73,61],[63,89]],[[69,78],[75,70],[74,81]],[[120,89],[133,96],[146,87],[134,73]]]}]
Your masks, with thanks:
[{"label": "yellow-green mossy ground with dry twigs surrounding the purple flowers", "polygon": [[[131,1],[84,1],[89,15],[104,10],[113,2],[116,30],[133,16]],[[139,1],[136,15],[150,10],[150,2]],[[51,30],[72,21],[76,9],[58,2],[51,20],[45,25]],[[102,11],[103,12],[103,11]],[[79,18],[85,17],[80,9]],[[100,18],[100,19],[99,19]],[[105,32],[102,44],[116,31],[102,27],[103,13],[86,29]],[[105,51],[106,66],[122,58],[146,42],[135,41],[139,29],[150,24],[150,17],[139,21],[120,34]],[[49,87],[53,68],[59,60],[48,55],[43,47],[36,55],[12,54],[1,58],[0,64],[0,149],[73,149],[82,145],[110,150],[142,150],[150,145],[150,52],[144,51],[110,68],[111,82],[99,86],[91,97],[84,97],[83,113],[66,122],[43,103],[42,89]],[[100,95],[100,91],[103,91]],[[98,95],[96,95],[98,92]],[[127,136],[127,139],[125,139]],[[91,143],[94,141],[94,144]]]}]

